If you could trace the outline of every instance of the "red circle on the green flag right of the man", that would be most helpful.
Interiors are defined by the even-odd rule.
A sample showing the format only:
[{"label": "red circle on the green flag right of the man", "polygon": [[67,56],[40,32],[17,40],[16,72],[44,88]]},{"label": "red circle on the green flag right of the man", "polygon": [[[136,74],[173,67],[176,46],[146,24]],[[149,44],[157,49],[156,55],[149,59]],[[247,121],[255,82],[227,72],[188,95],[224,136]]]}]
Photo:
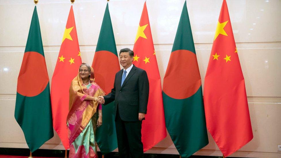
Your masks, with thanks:
[{"label": "red circle on the green flag right of the man", "polygon": [[201,86],[201,77],[195,53],[176,50],[171,53],[163,82],[165,94],[175,99],[185,99],[195,94]]}]

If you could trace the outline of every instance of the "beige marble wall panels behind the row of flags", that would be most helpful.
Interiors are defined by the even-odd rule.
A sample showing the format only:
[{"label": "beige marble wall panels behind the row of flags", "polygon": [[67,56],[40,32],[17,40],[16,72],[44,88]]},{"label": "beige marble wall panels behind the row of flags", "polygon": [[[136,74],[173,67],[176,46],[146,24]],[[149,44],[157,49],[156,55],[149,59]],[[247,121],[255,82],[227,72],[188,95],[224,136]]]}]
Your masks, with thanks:
[{"label": "beige marble wall panels behind the row of flags", "polygon": [[[117,50],[133,48],[144,0],[110,0]],[[184,0],[147,0],[156,57],[163,80]],[[222,0],[188,0],[187,8],[202,77],[208,66]],[[281,1],[227,0],[233,33],[246,81],[254,138],[231,156],[281,157]],[[50,79],[60,49],[70,2],[39,0],[45,59]],[[73,5],[83,62],[92,63],[106,0],[76,0]],[[14,119],[17,77],[32,12],[31,0],[0,0],[0,147],[27,148]],[[210,143],[195,155],[221,156]],[[55,133],[42,149],[64,149]],[[178,154],[167,136],[147,153]]]}]

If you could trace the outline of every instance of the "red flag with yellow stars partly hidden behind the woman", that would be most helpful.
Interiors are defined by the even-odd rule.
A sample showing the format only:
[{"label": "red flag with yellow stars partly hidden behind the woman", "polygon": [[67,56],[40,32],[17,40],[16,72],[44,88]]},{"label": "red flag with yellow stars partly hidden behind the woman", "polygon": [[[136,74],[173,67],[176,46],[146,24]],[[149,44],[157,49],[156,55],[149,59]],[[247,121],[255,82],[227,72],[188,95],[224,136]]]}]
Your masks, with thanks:
[{"label": "red flag with yellow stars partly hidden behind the woman", "polygon": [[53,126],[65,149],[69,149],[66,126],[69,111],[69,87],[73,78],[77,76],[81,63],[74,13],[71,6],[51,86]]}]

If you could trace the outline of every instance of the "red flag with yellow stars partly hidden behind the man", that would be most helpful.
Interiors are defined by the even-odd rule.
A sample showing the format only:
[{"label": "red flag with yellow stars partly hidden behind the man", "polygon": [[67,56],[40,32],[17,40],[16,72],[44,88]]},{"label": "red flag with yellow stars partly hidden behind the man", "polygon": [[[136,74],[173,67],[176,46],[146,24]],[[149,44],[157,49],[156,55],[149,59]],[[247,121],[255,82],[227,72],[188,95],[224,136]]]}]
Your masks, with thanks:
[{"label": "red flag with yellow stars partly hidden behind the man", "polygon": [[144,69],[149,79],[147,114],[145,115],[141,130],[143,151],[145,152],[167,136],[161,78],[152,41],[146,2],[140,17],[133,51],[133,64]]}]

